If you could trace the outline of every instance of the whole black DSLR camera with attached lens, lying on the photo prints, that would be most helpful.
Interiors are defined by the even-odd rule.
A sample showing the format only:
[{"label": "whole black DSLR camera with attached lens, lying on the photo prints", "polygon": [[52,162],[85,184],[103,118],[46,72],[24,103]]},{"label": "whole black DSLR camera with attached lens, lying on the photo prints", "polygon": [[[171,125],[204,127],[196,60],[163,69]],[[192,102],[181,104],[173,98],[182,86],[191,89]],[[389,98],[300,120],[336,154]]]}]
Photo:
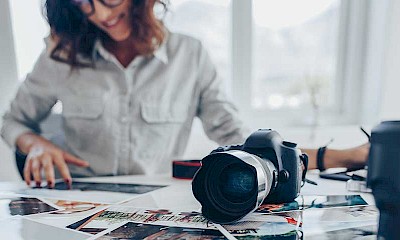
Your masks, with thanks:
[{"label": "whole black DSLR camera with attached lens, lying on the photo prints", "polygon": [[293,201],[300,193],[308,158],[271,129],[251,134],[243,145],[219,147],[202,159],[192,191],[204,217],[232,223],[262,203]]}]

